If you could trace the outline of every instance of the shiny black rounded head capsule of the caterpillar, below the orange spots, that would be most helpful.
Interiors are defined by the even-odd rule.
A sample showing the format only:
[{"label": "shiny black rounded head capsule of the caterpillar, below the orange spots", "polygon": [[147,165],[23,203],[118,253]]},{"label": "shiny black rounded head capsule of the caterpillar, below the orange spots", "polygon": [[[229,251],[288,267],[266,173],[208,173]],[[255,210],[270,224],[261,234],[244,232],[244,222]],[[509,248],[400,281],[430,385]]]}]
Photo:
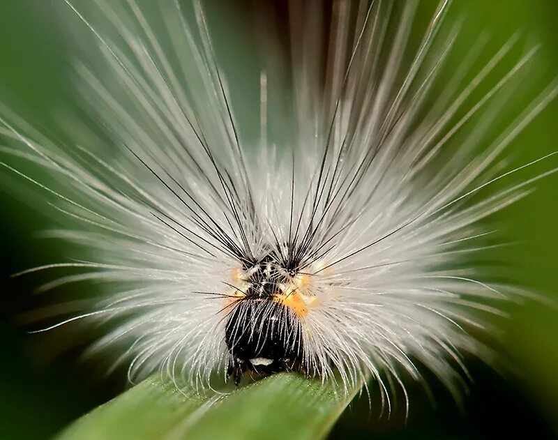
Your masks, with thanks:
[{"label": "shiny black rounded head capsule of the caterpillar, below the orange spots", "polygon": [[227,319],[225,341],[231,361],[227,376],[239,384],[243,372],[272,374],[298,369],[302,358],[299,319],[286,305],[244,298]]}]

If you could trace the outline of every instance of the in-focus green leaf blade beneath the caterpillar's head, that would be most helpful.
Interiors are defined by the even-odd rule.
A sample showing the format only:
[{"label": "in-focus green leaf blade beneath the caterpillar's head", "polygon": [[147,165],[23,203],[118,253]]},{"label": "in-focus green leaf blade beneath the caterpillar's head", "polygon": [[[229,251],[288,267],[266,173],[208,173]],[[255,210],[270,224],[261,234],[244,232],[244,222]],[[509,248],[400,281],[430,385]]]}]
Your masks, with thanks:
[{"label": "in-focus green leaf blade beneath the caterpillar's head", "polygon": [[204,395],[151,378],[80,418],[58,439],[319,439],[358,391],[345,393],[295,373]]}]

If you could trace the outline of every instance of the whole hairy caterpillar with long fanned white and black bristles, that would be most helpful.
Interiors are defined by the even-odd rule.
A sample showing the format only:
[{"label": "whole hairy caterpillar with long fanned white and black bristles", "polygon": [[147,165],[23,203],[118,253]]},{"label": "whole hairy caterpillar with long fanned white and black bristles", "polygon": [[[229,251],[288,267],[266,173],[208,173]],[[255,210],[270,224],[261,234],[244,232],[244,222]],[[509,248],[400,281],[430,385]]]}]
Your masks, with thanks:
[{"label": "whole hairy caterpillar with long fanned white and black bristles", "polygon": [[[488,356],[463,327],[483,328],[475,309],[492,310],[486,301],[506,298],[506,287],[456,264],[488,233],[476,223],[543,175],[475,197],[513,171],[498,172],[499,157],[555,98],[556,84],[478,146],[536,49],[467,107],[518,38],[469,77],[479,39],[432,99],[458,36],[442,33],[448,1],[410,60],[416,2],[396,11],[389,1],[335,3],[329,41],[312,21],[319,3],[294,5],[294,134],[253,148],[239,137],[199,3],[196,26],[181,4],[163,3],[167,33],[133,1],[96,2],[98,25],[68,7],[98,45],[96,65],[84,59],[77,73],[108,139],[62,148],[13,116],[1,120],[3,135],[19,143],[7,152],[59,179],[43,190],[76,222],[56,234],[96,255],[47,266],[84,268],[55,283],[101,281],[109,294],[56,325],[114,318],[93,350],[126,341],[130,377],[163,369],[238,382],[246,370],[299,370],[325,380],[339,372],[346,384],[372,376],[387,395],[382,373],[418,377],[416,359],[458,393],[461,353]],[[271,93],[267,76],[261,81]],[[265,93],[261,103],[265,127]]]}]

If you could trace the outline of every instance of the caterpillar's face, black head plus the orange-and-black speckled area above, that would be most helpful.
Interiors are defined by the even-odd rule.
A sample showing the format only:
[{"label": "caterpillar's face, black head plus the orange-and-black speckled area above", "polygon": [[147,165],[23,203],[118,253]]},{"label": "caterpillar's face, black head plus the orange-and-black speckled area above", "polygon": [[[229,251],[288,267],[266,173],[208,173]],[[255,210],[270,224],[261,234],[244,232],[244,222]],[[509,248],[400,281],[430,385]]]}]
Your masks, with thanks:
[{"label": "caterpillar's face, black head plus the orange-and-black speckled area above", "polygon": [[240,286],[225,325],[231,356],[227,377],[236,384],[247,369],[257,374],[301,370],[303,320],[316,298],[307,292],[308,275],[286,266],[272,252],[236,275]]}]

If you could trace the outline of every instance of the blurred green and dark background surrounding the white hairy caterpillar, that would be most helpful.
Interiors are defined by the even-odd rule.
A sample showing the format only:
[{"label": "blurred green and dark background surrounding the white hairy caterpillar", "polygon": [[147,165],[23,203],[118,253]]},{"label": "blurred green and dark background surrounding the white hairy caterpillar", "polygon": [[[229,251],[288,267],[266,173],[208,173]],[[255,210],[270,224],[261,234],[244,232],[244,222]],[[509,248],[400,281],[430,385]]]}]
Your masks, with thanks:
[{"label": "blurred green and dark background surrounding the white hairy caterpillar", "polygon": [[[68,82],[71,61],[68,53],[74,37],[61,26],[61,3],[61,0],[0,1],[1,101],[33,125],[55,133],[52,109],[75,105]],[[254,5],[257,2],[252,3],[252,7]],[[419,15],[428,17],[428,13],[422,11],[431,11],[432,5],[434,2],[430,0],[419,1]],[[223,24],[215,26],[215,32],[225,34],[221,29],[230,32],[230,29],[246,27],[241,25],[250,23],[249,6],[248,1],[239,2],[231,10],[220,11],[222,17],[214,13],[215,23],[222,20],[220,24]],[[493,38],[490,44],[494,47],[515,31],[521,31],[533,41],[543,43],[529,71],[531,82],[544,85],[558,74],[557,1],[457,0],[454,10],[464,13],[465,17],[461,50],[466,48],[467,39],[472,40],[481,29],[488,29]],[[222,62],[225,66],[236,63],[236,68],[229,69],[233,72],[231,82],[236,80],[235,73],[237,78],[247,77],[257,82],[257,68],[249,62],[238,63],[251,51],[243,38],[248,37],[239,36],[236,43],[231,43],[232,52],[223,51]],[[456,50],[460,50],[459,47]],[[257,86],[248,89],[248,96],[252,99],[257,96]],[[525,93],[518,93],[518,99],[512,104],[518,111],[534,96],[529,91],[527,97]],[[239,114],[249,113],[249,100],[239,103],[239,107]],[[250,118],[247,116],[247,119]],[[257,122],[257,112],[253,112],[253,119]],[[246,130],[245,135],[249,138],[250,130]],[[511,167],[558,151],[558,103],[552,103],[531,123],[511,144],[509,151]],[[523,178],[557,166],[558,161],[550,159],[530,169]],[[58,243],[40,239],[36,234],[56,222],[35,200],[40,195],[20,192],[17,180],[0,179],[0,184],[3,190],[0,191],[0,293],[3,298],[0,438],[47,438],[77,416],[119,393],[126,387],[126,381],[119,372],[106,378],[95,362],[81,361],[82,340],[72,334],[28,335],[28,327],[19,325],[22,313],[49,303],[49,298],[32,294],[33,287],[42,279],[48,280],[49,275],[10,278],[10,274],[60,261],[65,255]],[[502,224],[505,236],[515,242],[512,247],[499,250],[501,254],[495,258],[508,261],[515,279],[523,285],[556,301],[557,217],[558,176],[550,176],[536,183],[536,192],[527,199],[491,218]],[[402,404],[389,420],[377,420],[377,414],[374,409],[370,410],[368,399],[364,397],[354,402],[342,416],[332,437],[351,434],[367,438],[373,434],[377,439],[494,438],[522,430],[531,437],[556,437],[558,312],[536,302],[511,306],[511,312],[513,318],[504,323],[507,328],[502,349],[511,354],[513,366],[522,374],[502,377],[472,361],[469,367],[475,383],[470,395],[465,397],[463,414],[435,381],[432,381],[432,388],[437,407],[430,405],[420,386],[409,383],[411,411],[407,425],[402,416]],[[66,349],[59,350],[60,347]],[[60,354],[52,355],[59,351]]]}]

